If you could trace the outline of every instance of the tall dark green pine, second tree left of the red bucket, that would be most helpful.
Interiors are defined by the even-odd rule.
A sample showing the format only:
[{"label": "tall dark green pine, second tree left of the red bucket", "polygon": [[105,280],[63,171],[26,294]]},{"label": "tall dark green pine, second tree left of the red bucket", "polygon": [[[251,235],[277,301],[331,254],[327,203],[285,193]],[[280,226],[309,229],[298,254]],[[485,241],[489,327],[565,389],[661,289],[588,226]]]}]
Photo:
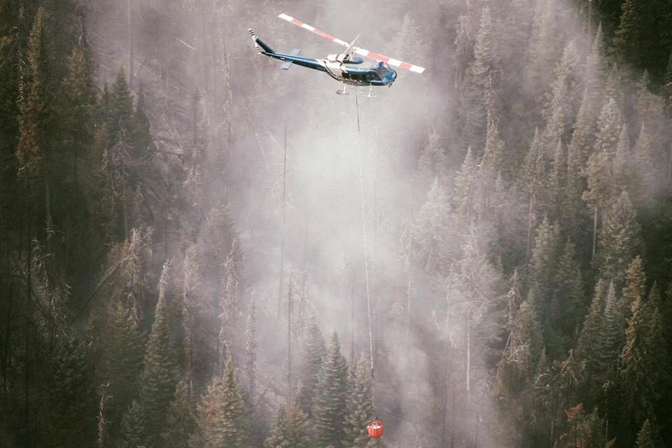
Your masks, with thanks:
[{"label": "tall dark green pine, second tree left of the red bucket", "polygon": [[348,366],[336,332],[327,349],[313,404],[314,442],[318,448],[345,448]]}]

